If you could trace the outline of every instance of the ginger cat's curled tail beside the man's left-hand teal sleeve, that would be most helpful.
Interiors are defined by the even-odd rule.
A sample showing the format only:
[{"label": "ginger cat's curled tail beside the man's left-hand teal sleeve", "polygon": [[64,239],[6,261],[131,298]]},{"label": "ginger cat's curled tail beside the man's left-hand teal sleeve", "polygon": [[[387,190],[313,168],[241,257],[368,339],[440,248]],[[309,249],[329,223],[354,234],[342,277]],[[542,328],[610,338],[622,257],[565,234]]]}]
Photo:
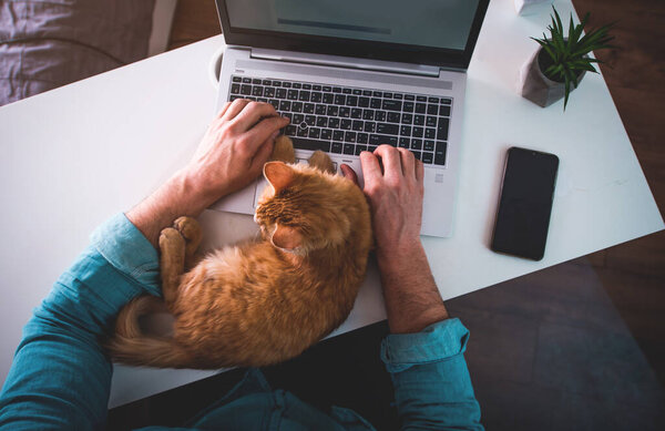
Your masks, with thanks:
[{"label": "ginger cat's curled tail beside the man's left-hand teal sleeve", "polygon": [[131,366],[191,366],[192,356],[173,338],[145,335],[141,331],[141,316],[164,310],[164,301],[150,295],[140,296],[124,306],[117,316],[115,335],[105,343],[111,357],[117,362]]}]

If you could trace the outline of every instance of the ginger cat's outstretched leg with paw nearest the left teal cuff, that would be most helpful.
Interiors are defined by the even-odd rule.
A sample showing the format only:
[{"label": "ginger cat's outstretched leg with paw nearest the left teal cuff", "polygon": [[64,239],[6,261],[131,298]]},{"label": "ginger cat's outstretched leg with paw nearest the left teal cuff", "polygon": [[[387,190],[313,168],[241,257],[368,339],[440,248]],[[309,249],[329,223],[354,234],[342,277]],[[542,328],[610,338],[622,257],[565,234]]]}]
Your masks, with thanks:
[{"label": "ginger cat's outstretched leg with paw nearest the left teal cuff", "polygon": [[171,305],[177,298],[181,276],[185,270],[185,238],[173,227],[166,227],[160,234],[160,273],[164,301]]}]

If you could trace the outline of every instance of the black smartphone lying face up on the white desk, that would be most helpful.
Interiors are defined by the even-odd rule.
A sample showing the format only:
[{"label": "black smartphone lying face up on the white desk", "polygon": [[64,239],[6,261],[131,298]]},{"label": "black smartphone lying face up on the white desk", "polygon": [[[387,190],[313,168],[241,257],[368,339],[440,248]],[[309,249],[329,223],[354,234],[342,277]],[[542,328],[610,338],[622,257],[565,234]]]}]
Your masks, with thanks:
[{"label": "black smartphone lying face up on the white desk", "polygon": [[492,250],[543,258],[557,171],[554,154],[516,146],[508,150]]}]

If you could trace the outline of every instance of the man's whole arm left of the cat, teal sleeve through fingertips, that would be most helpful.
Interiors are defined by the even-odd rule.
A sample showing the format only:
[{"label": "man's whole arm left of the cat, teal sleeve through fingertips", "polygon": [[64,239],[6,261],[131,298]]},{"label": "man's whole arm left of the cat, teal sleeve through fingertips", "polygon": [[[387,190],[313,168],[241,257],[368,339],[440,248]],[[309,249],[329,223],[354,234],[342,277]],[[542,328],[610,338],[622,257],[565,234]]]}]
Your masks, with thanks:
[{"label": "man's whole arm left of the cat, teal sleeve through fingertips", "polygon": [[127,301],[160,295],[160,230],[254,179],[287,122],[268,104],[227,104],[185,168],[95,230],[23,329],[0,393],[0,429],[104,427],[112,366],[100,340]]}]

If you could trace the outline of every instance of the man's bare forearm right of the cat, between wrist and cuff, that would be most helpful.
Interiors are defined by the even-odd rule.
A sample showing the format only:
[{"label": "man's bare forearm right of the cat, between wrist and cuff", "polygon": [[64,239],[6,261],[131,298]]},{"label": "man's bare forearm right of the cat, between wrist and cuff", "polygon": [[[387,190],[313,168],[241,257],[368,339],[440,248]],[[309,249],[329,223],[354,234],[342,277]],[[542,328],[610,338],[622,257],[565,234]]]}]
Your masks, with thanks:
[{"label": "man's bare forearm right of the cat, between wrist and cuff", "polygon": [[448,318],[420,242],[387,254],[378,253],[377,258],[388,324],[393,333],[418,332]]}]

